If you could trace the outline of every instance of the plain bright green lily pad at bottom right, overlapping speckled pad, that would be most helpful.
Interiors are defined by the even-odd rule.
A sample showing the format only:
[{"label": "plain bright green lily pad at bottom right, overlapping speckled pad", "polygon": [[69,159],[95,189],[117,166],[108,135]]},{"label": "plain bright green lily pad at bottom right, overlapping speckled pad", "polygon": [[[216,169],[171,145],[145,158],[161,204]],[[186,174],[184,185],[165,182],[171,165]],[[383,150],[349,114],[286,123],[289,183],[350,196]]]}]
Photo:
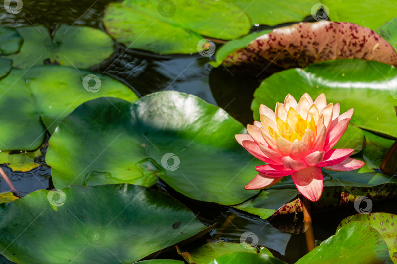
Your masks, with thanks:
[{"label": "plain bright green lily pad at bottom right, overlapping speckled pad", "polygon": [[362,222],[351,222],[339,229],[296,264],[384,263],[389,259],[387,245],[376,229]]}]

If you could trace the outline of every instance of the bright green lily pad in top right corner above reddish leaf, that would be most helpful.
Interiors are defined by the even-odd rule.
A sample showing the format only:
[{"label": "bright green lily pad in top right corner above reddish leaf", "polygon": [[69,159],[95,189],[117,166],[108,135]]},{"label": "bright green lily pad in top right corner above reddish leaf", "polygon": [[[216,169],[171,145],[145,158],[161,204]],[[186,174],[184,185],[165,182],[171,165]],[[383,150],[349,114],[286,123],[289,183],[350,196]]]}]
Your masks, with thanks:
[{"label": "bright green lily pad in top right corner above reddish leaf", "polygon": [[[391,0],[321,0],[333,21],[352,22],[378,29],[397,14],[397,2]],[[381,16],[379,14],[382,14]]]}]

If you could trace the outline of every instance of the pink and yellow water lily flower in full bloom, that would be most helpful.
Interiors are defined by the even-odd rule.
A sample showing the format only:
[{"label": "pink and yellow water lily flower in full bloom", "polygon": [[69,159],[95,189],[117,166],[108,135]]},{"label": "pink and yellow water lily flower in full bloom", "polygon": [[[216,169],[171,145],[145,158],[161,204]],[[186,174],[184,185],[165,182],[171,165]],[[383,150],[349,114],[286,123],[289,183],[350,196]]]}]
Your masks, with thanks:
[{"label": "pink and yellow water lily flower in full bloom", "polygon": [[332,149],[345,133],[353,108],[339,114],[340,106],[327,104],[324,94],[313,99],[305,93],[297,103],[288,94],[275,112],[261,105],[261,121],[248,125],[248,134],[236,139],[250,154],[268,164],[256,166],[258,175],[245,187],[257,190],[272,186],[291,175],[304,197],[317,201],[323,192],[321,168],[346,171],[364,162],[349,158],[353,149]]}]

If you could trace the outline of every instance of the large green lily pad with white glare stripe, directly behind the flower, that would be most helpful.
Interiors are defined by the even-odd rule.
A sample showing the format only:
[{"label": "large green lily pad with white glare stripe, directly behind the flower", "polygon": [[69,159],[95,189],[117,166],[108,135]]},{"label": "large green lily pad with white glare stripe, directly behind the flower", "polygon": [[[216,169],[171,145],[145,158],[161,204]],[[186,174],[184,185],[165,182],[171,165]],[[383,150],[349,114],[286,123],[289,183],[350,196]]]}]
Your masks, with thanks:
[{"label": "large green lily pad with white glare stripe, directly behind the flower", "polygon": [[387,64],[358,59],[326,61],[265,79],[255,91],[251,109],[259,120],[261,103],[273,108],[288,93],[296,99],[305,92],[313,98],[325,93],[328,102],[340,104],[341,113],[354,108],[354,125],[397,137],[396,81],[397,69]]}]

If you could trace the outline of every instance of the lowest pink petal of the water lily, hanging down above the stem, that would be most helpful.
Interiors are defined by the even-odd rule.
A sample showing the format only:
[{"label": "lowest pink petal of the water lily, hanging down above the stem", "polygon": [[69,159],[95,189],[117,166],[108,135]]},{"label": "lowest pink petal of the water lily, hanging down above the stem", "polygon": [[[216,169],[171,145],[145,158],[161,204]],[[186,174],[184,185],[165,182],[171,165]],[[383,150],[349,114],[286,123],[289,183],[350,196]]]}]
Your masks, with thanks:
[{"label": "lowest pink petal of the water lily, hanging down above the stem", "polygon": [[315,202],[323,192],[323,173],[318,167],[310,166],[294,172],[292,180],[298,191],[308,200]]}]

